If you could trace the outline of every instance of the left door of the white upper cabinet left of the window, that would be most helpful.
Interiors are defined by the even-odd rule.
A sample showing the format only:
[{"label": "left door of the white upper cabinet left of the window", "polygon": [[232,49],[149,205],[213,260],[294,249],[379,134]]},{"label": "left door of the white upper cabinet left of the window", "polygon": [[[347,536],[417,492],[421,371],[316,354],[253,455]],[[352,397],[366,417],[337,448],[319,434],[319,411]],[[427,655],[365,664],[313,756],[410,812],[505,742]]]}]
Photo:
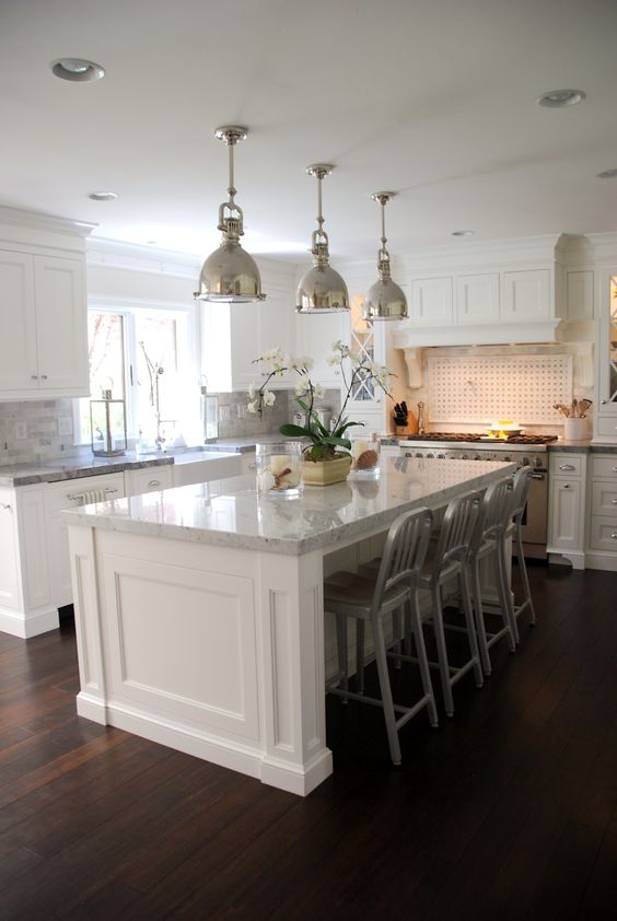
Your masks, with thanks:
[{"label": "left door of the white upper cabinet left of the window", "polygon": [[34,259],[0,252],[0,392],[36,390]]}]

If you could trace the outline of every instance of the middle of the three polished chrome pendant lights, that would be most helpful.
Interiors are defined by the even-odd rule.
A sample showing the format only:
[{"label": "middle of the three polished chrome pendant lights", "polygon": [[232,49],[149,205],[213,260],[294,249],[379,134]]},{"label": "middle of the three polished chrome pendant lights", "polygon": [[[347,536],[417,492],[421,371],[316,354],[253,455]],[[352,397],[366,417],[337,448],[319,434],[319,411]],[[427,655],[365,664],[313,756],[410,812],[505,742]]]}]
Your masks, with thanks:
[{"label": "middle of the three polished chrome pendant lights", "polygon": [[317,224],[319,226],[318,230],[313,231],[312,235],[313,268],[308,269],[298,287],[295,307],[298,313],[325,314],[349,310],[347,284],[329,265],[328,235],[324,230],[322,214],[322,182],[325,176],[330,175],[333,170],[334,166],[329,163],[314,163],[306,167],[308,175],[317,179]]}]

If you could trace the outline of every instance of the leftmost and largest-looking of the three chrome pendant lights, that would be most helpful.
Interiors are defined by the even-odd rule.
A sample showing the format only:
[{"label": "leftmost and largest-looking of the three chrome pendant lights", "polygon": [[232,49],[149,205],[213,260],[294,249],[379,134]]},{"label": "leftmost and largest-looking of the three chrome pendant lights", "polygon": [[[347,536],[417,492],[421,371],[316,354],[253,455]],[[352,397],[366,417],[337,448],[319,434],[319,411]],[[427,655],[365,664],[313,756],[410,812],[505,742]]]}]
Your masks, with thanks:
[{"label": "leftmost and largest-looking of the three chrome pendant lights", "polygon": [[266,298],[261,293],[257,263],[240,245],[240,237],[244,233],[244,215],[242,208],[234,201],[233,149],[238,141],[245,140],[247,133],[247,129],[238,125],[224,125],[216,131],[217,138],[224,141],[229,150],[230,198],[219,208],[218,226],[223,240],[201,266],[199,291],[195,292],[197,301],[244,304],[248,301],[264,301]]}]

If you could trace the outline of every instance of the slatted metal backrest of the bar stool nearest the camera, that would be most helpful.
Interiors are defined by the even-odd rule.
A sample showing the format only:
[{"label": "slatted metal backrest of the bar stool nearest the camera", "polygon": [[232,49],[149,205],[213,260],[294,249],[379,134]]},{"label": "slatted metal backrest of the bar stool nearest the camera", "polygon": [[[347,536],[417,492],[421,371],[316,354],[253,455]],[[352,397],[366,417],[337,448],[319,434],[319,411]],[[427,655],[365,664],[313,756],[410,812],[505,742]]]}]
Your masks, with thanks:
[{"label": "slatted metal backrest of the bar stool nearest the camera", "polygon": [[399,515],[389,528],[375,592],[373,607],[379,610],[386,592],[401,582],[412,586],[422,571],[431,537],[433,513],[430,509],[417,509]]}]

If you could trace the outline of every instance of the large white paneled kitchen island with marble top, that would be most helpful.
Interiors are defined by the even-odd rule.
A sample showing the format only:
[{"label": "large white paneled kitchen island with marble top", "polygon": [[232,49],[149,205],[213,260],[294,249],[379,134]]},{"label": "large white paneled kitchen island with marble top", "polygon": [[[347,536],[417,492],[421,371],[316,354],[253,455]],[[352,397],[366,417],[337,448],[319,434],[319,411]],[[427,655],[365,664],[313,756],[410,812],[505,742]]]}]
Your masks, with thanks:
[{"label": "large white paneled kitchen island with marble top", "polygon": [[373,556],[403,512],[513,471],[396,458],[296,499],[245,476],[65,512],[79,714],[310,793],[333,769],[324,574]]}]

